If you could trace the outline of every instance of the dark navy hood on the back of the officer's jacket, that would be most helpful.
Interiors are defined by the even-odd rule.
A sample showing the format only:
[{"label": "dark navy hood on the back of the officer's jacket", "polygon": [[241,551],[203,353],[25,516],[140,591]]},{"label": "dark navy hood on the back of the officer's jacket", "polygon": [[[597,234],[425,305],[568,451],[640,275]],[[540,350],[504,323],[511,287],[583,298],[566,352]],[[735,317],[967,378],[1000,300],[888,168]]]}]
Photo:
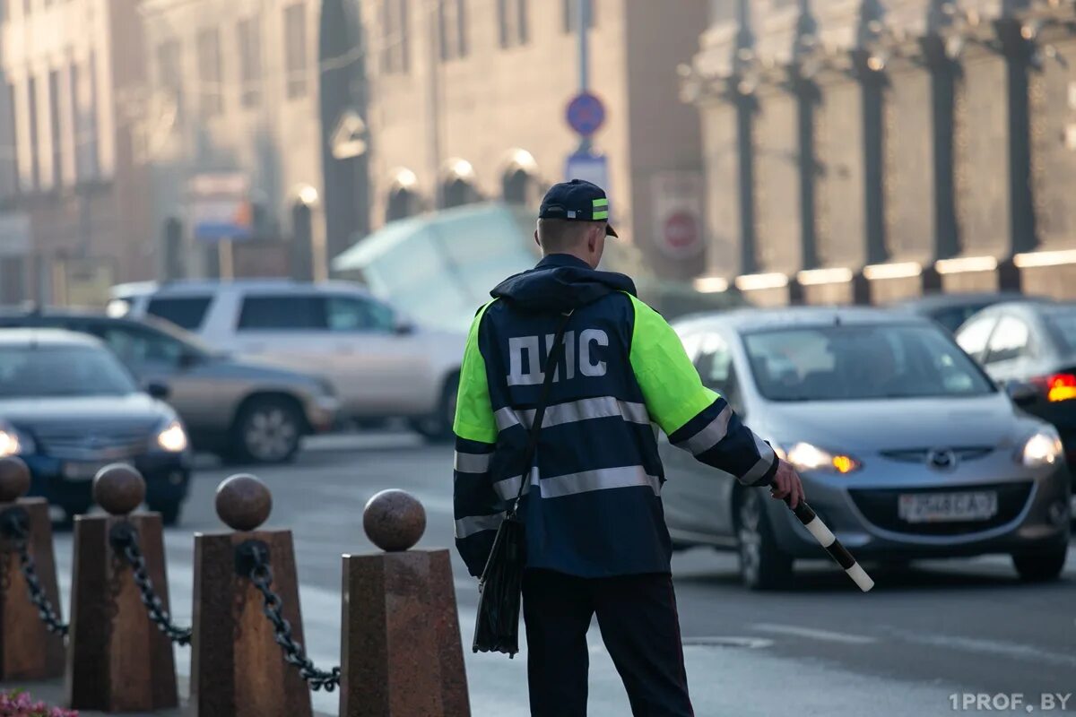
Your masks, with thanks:
[{"label": "dark navy hood on the back of the officer's jacket", "polygon": [[613,291],[636,296],[635,283],[624,274],[591,269],[582,259],[552,254],[529,271],[509,276],[490,292],[527,311],[568,311],[597,301]]}]

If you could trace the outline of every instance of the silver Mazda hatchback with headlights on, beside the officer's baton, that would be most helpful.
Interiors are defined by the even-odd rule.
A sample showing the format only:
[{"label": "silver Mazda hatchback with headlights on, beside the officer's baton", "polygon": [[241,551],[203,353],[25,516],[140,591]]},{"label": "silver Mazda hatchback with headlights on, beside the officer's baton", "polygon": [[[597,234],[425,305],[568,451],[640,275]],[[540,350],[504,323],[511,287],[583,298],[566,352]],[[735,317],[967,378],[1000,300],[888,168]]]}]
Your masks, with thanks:
[{"label": "silver Mazda hatchback with headlights on, beside the officer's baton", "polygon": [[[878,309],[735,311],[674,324],[704,383],[801,474],[861,561],[1008,554],[1058,576],[1068,471],[1057,430],[1020,412],[933,321]],[[783,503],[660,445],[676,547],[739,554],[744,583],[792,583],[818,542]]]}]

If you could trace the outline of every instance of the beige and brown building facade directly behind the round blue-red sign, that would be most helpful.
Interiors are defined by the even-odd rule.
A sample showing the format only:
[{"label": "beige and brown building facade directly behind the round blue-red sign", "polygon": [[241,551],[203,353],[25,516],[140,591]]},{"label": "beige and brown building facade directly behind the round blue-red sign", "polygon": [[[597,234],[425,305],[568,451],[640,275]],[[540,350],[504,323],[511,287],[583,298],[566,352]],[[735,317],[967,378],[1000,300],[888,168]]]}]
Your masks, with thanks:
[{"label": "beige and brown building facade directly behind the round blue-red sign", "polygon": [[[537,209],[580,138],[579,0],[364,2],[372,226],[483,199]],[[650,0],[591,0],[589,89],[607,110],[612,220],[660,273],[702,268],[699,120],[678,99],[706,19]]]}]

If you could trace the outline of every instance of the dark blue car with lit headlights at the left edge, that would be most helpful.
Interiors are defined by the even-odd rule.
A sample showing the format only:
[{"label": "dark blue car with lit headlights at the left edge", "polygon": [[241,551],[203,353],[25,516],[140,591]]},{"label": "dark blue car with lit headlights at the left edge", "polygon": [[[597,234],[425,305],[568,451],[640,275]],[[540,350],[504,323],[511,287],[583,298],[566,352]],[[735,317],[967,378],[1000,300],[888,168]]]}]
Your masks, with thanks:
[{"label": "dark blue car with lit headlights at the left edge", "polygon": [[162,398],[142,390],[104,345],[53,329],[0,330],[0,457],[30,469],[30,494],[69,518],[93,504],[91,483],[109,463],[133,465],[145,502],[168,525],[187,496],[192,455],[186,428]]}]

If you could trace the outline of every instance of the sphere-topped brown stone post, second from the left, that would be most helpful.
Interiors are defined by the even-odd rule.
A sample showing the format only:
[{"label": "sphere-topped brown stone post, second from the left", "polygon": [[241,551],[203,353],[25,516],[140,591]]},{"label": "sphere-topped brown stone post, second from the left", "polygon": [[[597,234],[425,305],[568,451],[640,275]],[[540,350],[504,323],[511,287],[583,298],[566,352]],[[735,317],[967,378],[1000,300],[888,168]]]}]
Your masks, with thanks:
[{"label": "sphere-topped brown stone post, second from the left", "polygon": [[113,548],[114,530],[138,534],[146,573],[170,611],[159,513],[131,513],[145,499],[142,475],[124,463],[94,478],[94,500],[109,515],[74,521],[67,697],[74,709],[147,712],[179,704],[172,643],[150,619],[130,564]]}]

